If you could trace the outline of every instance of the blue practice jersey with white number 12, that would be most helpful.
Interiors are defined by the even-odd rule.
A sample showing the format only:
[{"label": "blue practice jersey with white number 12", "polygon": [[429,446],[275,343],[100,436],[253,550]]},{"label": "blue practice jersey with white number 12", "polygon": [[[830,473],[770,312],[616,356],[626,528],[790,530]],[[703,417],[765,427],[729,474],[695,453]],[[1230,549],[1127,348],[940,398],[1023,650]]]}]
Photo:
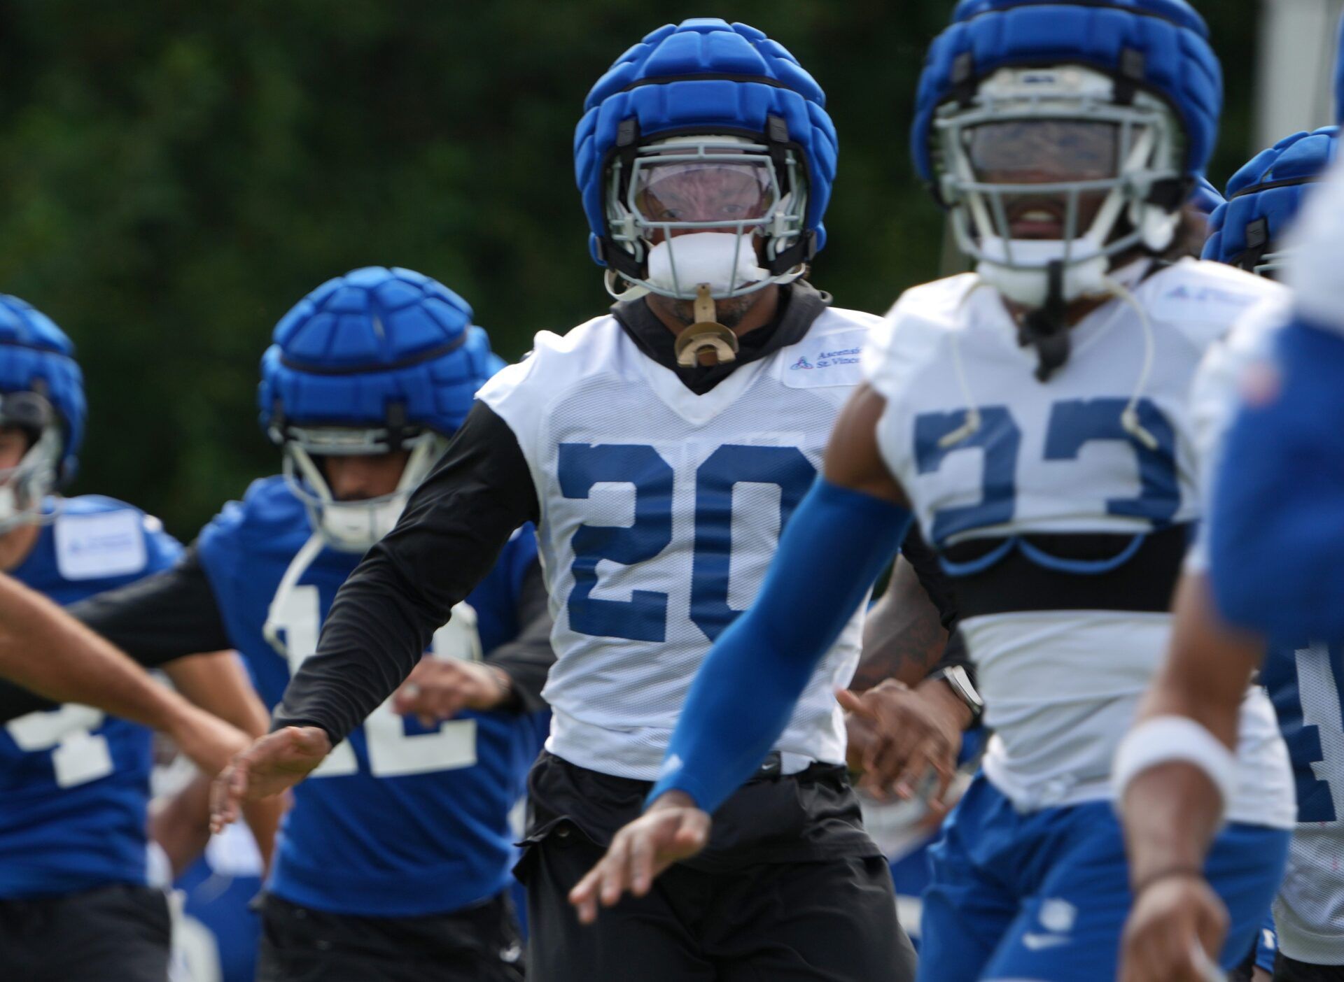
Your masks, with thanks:
[{"label": "blue practice jersey with white number 12", "polygon": [[[317,648],[321,621],[360,556],[323,549],[278,609],[277,587],[312,536],[284,478],[249,488],[200,535],[230,639],[274,708]],[[512,639],[531,531],[505,545],[492,572],[435,635],[434,653],[478,658]],[[270,611],[289,657],[263,637]],[[513,862],[507,814],[538,752],[536,720],[464,712],[437,727],[384,703],[294,789],[269,889],[304,907],[363,916],[454,911],[505,889]]]}]

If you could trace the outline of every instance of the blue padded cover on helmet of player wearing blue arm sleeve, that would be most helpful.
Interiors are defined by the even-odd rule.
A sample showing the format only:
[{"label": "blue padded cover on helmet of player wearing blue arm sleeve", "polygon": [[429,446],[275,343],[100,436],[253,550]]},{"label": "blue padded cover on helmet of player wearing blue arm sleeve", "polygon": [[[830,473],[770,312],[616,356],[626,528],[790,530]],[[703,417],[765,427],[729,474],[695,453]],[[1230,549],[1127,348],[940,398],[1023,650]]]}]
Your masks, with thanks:
[{"label": "blue padded cover on helmet of player wearing blue arm sleeve", "polygon": [[[1218,138],[1223,73],[1208,28],[1185,0],[961,0],[919,78],[911,129],[919,176],[933,180],[934,114],[960,86],[1007,66],[1047,64],[1124,75],[1164,97],[1185,132],[1185,172],[1204,172]],[[970,77],[960,78],[968,66]]]}]

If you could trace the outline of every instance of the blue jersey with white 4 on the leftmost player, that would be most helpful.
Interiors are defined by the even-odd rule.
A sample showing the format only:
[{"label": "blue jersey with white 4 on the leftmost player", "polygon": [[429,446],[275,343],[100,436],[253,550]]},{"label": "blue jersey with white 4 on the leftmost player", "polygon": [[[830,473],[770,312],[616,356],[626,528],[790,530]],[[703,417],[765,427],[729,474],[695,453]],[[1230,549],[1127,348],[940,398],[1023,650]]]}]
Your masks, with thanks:
[{"label": "blue jersey with white 4 on the leftmost player", "polygon": [[[56,509],[56,505],[50,505]],[[19,582],[70,605],[173,564],[181,545],[137,508],[62,501]],[[151,732],[86,705],[0,729],[0,897],[145,884]]]}]

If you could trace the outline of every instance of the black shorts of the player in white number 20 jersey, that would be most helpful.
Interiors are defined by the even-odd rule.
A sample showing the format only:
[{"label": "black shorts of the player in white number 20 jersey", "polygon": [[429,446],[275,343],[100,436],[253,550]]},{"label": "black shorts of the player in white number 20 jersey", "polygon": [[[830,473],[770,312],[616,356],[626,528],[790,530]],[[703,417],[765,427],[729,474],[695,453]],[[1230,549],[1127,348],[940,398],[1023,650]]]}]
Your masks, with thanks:
[{"label": "black shorts of the player in white number 20 jersey", "polygon": [[530,982],[907,982],[914,950],[843,768],[766,771],[715,814],[710,848],[583,927],[566,895],[649,785],[543,754],[528,782]]}]

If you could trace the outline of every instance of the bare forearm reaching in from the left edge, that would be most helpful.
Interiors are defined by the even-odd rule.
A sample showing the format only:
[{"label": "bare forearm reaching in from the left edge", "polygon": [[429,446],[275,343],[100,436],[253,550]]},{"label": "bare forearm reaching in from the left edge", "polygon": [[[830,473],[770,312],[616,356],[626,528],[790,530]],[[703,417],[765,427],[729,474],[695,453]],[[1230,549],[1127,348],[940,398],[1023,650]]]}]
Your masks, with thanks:
[{"label": "bare forearm reaching in from the left edge", "polygon": [[0,576],[0,673],[52,700],[83,703],[156,729],[188,707],[55,603]]}]

